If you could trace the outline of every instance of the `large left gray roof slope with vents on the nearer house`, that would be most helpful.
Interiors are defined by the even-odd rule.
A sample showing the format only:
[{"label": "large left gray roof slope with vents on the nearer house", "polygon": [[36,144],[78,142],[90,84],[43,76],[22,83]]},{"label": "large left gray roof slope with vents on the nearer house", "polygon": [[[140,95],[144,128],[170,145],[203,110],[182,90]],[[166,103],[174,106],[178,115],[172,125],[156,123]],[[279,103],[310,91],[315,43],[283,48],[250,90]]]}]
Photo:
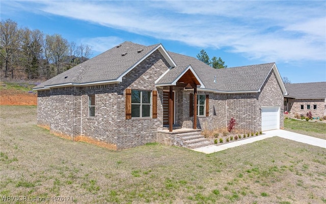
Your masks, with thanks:
[{"label": "large left gray roof slope with vents on the nearer house", "polygon": [[[113,47],[106,52],[83,62],[71,69],[58,74],[34,88],[66,83],[88,83],[98,81],[116,80],[132,65],[146,56],[153,48],[158,46],[144,46],[132,42],[124,42],[119,47]],[[138,53],[138,50],[144,49]],[[127,53],[125,56],[122,54]]]}]

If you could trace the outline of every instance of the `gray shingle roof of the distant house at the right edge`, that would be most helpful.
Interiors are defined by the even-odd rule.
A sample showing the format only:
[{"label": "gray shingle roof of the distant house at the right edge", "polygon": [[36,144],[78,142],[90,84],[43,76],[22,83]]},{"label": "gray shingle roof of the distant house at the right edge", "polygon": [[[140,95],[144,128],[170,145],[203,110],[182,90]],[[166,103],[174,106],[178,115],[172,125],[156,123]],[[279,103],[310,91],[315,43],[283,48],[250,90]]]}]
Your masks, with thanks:
[{"label": "gray shingle roof of the distant house at the right edge", "polygon": [[285,84],[288,96],[295,98],[326,98],[326,82]]}]

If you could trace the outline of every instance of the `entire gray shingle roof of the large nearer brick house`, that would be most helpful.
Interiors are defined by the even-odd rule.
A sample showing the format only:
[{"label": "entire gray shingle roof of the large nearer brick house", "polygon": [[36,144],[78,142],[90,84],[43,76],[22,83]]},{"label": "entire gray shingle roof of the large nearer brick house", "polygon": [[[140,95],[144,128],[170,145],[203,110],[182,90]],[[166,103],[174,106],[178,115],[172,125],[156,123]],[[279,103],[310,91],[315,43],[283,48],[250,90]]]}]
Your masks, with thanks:
[{"label": "entire gray shingle roof of the large nearer brick house", "polygon": [[[121,46],[113,47],[41,83],[34,87],[34,89],[69,83],[85,84],[101,81],[115,81],[159,45],[160,44],[145,46],[126,41],[122,43]],[[138,52],[141,49],[144,50]],[[123,55],[125,53],[127,54]],[[214,69],[194,57],[172,52],[168,52],[168,55],[170,55],[177,66],[170,69],[170,71],[157,82],[157,85],[174,82],[180,74],[191,65],[200,78],[200,81],[204,84],[205,89],[222,92],[258,91],[264,83],[268,73],[275,65],[275,63],[267,63]],[[217,83],[214,83],[214,76],[216,76]]]}]

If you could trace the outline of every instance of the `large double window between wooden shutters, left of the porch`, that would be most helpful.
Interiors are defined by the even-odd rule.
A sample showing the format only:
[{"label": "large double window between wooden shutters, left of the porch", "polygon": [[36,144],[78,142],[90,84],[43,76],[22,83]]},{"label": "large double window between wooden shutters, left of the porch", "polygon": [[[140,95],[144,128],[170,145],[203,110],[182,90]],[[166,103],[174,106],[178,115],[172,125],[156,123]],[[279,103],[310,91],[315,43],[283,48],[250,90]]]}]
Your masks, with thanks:
[{"label": "large double window between wooden shutters, left of the porch", "polygon": [[151,92],[131,90],[131,117],[150,117]]}]

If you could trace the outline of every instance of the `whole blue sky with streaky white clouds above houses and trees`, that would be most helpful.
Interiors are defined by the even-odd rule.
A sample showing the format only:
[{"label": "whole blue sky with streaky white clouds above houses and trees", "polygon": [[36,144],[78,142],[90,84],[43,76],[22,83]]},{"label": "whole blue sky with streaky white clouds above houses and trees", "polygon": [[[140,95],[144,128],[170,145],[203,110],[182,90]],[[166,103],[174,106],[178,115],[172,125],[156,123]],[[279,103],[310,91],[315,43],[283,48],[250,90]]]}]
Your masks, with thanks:
[{"label": "whole blue sky with streaky white clouds above houses and trees", "polygon": [[1,19],[89,44],[162,43],[228,67],[276,62],[292,83],[326,81],[326,1],[1,1]]}]

